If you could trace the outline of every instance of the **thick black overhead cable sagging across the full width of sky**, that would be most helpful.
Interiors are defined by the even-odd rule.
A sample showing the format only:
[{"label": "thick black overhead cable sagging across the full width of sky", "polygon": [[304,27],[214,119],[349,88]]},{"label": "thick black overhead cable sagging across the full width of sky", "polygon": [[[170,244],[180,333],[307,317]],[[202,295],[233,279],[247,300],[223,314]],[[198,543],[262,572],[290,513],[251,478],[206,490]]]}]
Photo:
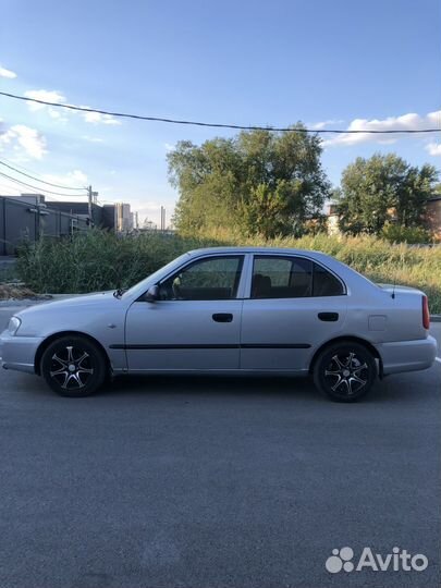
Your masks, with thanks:
[{"label": "thick black overhead cable sagging across the full width of sky", "polygon": [[441,132],[441,128],[405,128],[405,130],[399,130],[399,128],[389,128],[384,131],[373,131],[373,130],[342,130],[342,128],[297,128],[297,127],[290,127],[290,126],[260,126],[260,125],[242,125],[242,124],[223,124],[223,123],[207,123],[207,122],[200,122],[200,121],[184,121],[179,119],[163,119],[160,117],[145,117],[142,114],[127,114],[124,112],[111,112],[109,110],[100,110],[96,108],[87,108],[87,107],[78,107],[74,105],[63,105],[60,102],[49,102],[47,100],[38,100],[37,98],[27,98],[26,96],[17,96],[16,94],[10,94],[7,91],[0,91],[1,96],[5,96],[7,98],[14,98],[16,100],[24,100],[26,102],[36,102],[38,105],[45,105],[45,106],[51,106],[56,108],[65,108],[69,110],[77,110],[81,112],[96,112],[98,114],[105,114],[109,117],[114,118],[124,118],[124,119],[136,119],[142,121],[154,121],[154,122],[163,122],[163,123],[170,123],[170,124],[186,124],[186,125],[193,125],[193,126],[210,126],[216,128],[235,128],[235,130],[243,130],[243,131],[279,131],[279,132],[294,132],[294,133],[314,133],[314,134],[322,134],[322,133],[333,133],[333,134],[348,134],[348,135],[356,135],[360,133],[366,133],[369,135],[392,135],[392,134],[413,134],[413,133],[439,133]]}]

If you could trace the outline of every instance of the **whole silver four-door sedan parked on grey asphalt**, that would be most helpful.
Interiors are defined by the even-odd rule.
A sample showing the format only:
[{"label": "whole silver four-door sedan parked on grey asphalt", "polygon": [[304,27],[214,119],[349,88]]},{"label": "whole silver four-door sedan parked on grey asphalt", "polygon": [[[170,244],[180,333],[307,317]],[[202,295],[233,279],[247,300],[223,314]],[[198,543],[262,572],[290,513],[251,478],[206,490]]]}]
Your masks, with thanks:
[{"label": "whole silver four-door sedan parked on grey asphalt", "polygon": [[429,368],[426,295],[377,285],[328,255],[254,247],[189,252],[127,291],[27,308],[0,338],[3,368],[63,396],[123,373],[311,375],[353,402],[376,379]]}]

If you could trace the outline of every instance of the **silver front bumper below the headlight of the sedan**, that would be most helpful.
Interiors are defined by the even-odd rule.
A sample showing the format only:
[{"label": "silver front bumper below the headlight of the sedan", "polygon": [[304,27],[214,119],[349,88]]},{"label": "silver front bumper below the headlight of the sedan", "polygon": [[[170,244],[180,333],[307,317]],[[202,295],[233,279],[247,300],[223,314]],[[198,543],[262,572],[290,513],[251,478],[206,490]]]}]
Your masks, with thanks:
[{"label": "silver front bumper below the headlight of the sedan", "polygon": [[41,336],[12,336],[8,330],[0,335],[0,365],[4,369],[16,369],[35,373],[35,354],[44,339]]}]

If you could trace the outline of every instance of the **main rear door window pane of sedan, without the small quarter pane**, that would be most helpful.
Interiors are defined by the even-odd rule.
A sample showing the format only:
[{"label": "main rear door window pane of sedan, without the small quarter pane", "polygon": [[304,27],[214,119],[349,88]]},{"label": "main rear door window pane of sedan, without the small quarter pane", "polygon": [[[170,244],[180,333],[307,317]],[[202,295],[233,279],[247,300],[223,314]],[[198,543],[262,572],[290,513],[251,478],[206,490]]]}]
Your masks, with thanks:
[{"label": "main rear door window pane of sedan, without the small quarter pane", "polygon": [[313,294],[313,262],[302,257],[256,256],[252,298],[298,298]]}]

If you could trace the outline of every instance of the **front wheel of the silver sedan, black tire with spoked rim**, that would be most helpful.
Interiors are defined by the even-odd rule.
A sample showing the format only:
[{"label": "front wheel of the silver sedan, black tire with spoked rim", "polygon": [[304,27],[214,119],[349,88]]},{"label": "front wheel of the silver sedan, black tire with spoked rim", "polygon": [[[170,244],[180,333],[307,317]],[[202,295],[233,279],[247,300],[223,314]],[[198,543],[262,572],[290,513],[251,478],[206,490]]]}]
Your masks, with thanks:
[{"label": "front wheel of the silver sedan, black tire with spoked rim", "polygon": [[102,351],[79,335],[53,341],[42,354],[40,369],[57,394],[74,399],[94,394],[108,371]]}]

